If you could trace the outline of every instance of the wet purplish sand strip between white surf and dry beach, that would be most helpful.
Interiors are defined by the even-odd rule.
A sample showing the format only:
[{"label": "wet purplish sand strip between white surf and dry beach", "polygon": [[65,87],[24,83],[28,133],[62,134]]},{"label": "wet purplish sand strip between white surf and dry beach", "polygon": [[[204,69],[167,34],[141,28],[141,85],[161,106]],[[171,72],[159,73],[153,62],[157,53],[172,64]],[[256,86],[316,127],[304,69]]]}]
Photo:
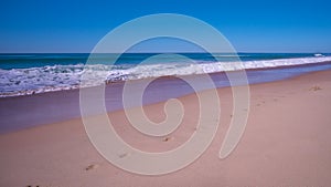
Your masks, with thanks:
[{"label": "wet purplish sand strip between white surf and dry beach", "polygon": [[[255,77],[264,77],[266,83],[273,83],[278,81],[286,81],[296,76],[309,74],[311,72],[296,72],[298,69],[311,70],[318,72],[323,70],[322,65],[330,65],[331,62],[323,64],[303,64],[295,65],[286,69],[271,67],[264,70],[249,70],[246,71],[249,85],[263,84],[264,82],[256,81]],[[317,70],[316,70],[317,69]],[[285,71],[288,76],[286,79],[275,79],[275,74],[279,71]],[[302,71],[302,70],[301,70]],[[231,73],[231,72],[229,72]],[[281,73],[281,72],[280,72]],[[210,77],[214,81],[216,87],[228,87],[229,83],[224,72],[210,73]],[[202,75],[186,75],[185,77],[194,79],[199,82],[199,76]],[[250,77],[250,80],[249,80]],[[148,81],[140,80],[141,81]],[[139,80],[132,81],[139,83]],[[116,82],[106,86],[106,106],[108,112],[122,110],[122,103],[118,102],[122,100],[122,87],[125,82]],[[203,83],[200,83],[203,84]],[[163,91],[166,89],[166,92]],[[211,87],[204,87],[202,90],[209,90]],[[161,91],[160,91],[161,90]],[[173,91],[172,91],[173,90]],[[172,97],[180,97],[188,94],[192,94],[194,91],[190,85],[175,76],[162,76],[153,81],[149,89],[145,93],[143,105],[154,104],[167,101]],[[109,96],[108,96],[109,95]],[[135,107],[136,105],[131,106]],[[22,95],[13,97],[0,98],[0,118],[2,118],[0,126],[0,134],[20,131],[39,125],[45,125],[50,123],[63,122],[72,118],[81,117],[79,111],[79,90],[64,90],[55,92],[46,92],[33,95]],[[18,117],[17,113],[20,113]]]}]

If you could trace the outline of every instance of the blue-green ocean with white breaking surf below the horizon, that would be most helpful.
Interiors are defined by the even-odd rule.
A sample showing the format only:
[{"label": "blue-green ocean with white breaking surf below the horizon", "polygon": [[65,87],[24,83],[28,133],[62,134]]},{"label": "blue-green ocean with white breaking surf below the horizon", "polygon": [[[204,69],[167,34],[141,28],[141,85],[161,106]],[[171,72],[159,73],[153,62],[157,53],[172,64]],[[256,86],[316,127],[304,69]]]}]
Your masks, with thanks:
[{"label": "blue-green ocean with white breaking surf below the horizon", "polygon": [[[249,83],[269,82],[311,71],[331,69],[331,54],[316,53],[181,53],[178,55],[157,53],[124,53],[113,65],[107,64],[115,54],[97,54],[97,64],[88,64],[95,76],[107,74],[107,82],[139,80],[169,75],[191,75],[234,71],[241,67],[256,70],[248,73]],[[0,54],[0,97],[30,95],[35,93],[78,89],[81,76],[86,71],[88,53],[38,53]],[[217,56],[217,60],[214,58]],[[243,66],[235,66],[239,60]],[[148,63],[145,61],[148,60]],[[143,63],[142,63],[143,62]],[[316,64],[312,66],[300,66]],[[296,65],[298,65],[296,67]],[[282,67],[282,69],[269,69]],[[295,67],[295,69],[293,69]],[[273,71],[270,73],[270,71]],[[257,75],[258,74],[258,75]],[[216,85],[218,87],[225,84]]]}]

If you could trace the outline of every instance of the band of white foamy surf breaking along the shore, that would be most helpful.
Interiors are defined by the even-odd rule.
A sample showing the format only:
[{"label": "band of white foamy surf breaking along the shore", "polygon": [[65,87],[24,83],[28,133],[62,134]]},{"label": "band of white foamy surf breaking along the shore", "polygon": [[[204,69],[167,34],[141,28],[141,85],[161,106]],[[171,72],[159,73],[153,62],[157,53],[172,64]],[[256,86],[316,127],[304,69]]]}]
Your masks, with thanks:
[{"label": "band of white foamy surf breaking along the shore", "polygon": [[[0,69],[0,97],[77,89],[84,73],[90,86],[104,81],[125,81],[167,75],[190,75],[234,70],[265,69],[331,61],[331,56],[278,59],[239,62],[163,63],[137,66],[103,64],[54,65],[31,69]],[[107,77],[105,80],[105,77]]]}]

